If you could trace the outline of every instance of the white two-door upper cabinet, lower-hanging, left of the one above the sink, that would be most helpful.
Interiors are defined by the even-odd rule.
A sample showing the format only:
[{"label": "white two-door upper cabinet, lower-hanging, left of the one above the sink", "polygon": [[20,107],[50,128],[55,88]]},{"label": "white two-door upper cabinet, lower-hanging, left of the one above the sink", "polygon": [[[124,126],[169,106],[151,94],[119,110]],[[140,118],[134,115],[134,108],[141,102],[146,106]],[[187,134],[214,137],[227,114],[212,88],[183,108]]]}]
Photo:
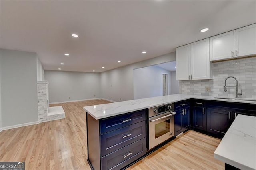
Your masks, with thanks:
[{"label": "white two-door upper cabinet, lower-hanging, left of the one above the sink", "polygon": [[176,48],[176,66],[177,80],[212,78],[209,38]]}]

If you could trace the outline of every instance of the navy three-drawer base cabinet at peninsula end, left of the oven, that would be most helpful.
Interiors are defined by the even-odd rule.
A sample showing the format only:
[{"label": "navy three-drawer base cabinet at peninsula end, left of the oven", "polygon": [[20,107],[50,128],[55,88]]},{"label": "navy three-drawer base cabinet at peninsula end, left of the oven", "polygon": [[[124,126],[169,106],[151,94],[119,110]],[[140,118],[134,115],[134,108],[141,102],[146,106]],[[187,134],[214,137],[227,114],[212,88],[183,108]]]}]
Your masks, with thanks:
[{"label": "navy three-drawer base cabinet at peninsula end, left of the oven", "polygon": [[146,154],[146,110],[95,120],[86,113],[88,162],[119,170]]}]

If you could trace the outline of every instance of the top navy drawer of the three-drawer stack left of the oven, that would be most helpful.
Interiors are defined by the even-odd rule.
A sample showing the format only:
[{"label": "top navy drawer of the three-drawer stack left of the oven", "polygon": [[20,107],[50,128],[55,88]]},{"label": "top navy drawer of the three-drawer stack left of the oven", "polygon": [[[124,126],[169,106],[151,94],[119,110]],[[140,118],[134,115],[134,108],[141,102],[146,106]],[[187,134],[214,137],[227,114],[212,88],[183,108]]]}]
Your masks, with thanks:
[{"label": "top navy drawer of the three-drawer stack left of the oven", "polygon": [[146,120],[146,110],[121,114],[100,120],[100,134]]}]

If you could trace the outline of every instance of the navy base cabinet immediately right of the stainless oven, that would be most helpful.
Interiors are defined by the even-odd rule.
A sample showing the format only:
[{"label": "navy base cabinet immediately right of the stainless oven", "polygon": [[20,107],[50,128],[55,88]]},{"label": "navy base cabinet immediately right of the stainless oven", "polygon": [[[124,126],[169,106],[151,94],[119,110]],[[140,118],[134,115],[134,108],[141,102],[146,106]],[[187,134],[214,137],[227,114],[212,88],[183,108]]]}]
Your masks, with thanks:
[{"label": "navy base cabinet immediately right of the stainless oven", "polygon": [[185,100],[174,103],[174,131],[175,136],[190,128],[190,102]]}]

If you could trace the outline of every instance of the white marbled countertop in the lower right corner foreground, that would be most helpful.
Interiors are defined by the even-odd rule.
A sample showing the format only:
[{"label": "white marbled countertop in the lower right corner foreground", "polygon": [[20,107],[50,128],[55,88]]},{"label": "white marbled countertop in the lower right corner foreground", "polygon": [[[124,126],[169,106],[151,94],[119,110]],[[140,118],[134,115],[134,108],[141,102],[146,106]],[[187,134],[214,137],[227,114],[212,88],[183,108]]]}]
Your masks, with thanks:
[{"label": "white marbled countertop in the lower right corner foreground", "polygon": [[256,117],[238,114],[214,158],[242,170],[256,170]]}]

